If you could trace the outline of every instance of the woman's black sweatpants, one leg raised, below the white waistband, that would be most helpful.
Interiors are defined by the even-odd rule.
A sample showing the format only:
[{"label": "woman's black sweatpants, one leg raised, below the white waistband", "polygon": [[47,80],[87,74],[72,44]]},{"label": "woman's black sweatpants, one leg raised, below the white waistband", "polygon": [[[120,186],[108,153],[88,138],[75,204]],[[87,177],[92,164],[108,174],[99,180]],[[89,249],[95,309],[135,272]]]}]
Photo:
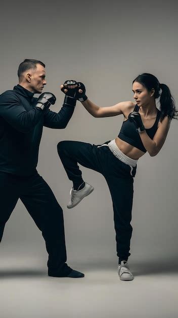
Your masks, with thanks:
[{"label": "woman's black sweatpants, one leg raised, below the white waistband", "polygon": [[83,182],[77,163],[98,171],[105,177],[113,202],[117,256],[120,260],[127,260],[130,256],[132,234],[130,221],[133,177],[136,175],[137,166],[132,168],[121,162],[108,146],[92,145],[78,141],[59,142],[58,153],[68,178],[74,184]]}]

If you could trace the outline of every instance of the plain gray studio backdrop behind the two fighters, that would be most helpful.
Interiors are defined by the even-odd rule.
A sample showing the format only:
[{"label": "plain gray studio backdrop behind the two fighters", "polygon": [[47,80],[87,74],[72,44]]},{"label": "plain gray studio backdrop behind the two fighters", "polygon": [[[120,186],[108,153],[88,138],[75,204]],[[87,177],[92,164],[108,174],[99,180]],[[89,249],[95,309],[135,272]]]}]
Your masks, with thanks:
[{"label": "plain gray studio backdrop behind the two fighters", "polygon": [[[1,92],[17,84],[24,58],[46,63],[47,85],[64,100],[60,84],[84,82],[86,94],[99,106],[133,101],[132,80],[143,72],[165,83],[177,102],[177,4],[169,2],[50,1],[1,5]],[[95,144],[114,139],[123,117],[94,118],[77,102],[65,130],[44,128],[38,172],[49,183],[64,211],[68,263],[117,263],[112,202],[102,175],[82,168],[95,191],[68,210],[71,182],[57,154],[61,140]],[[132,209],[130,262],[177,258],[177,132],[172,120],[166,142],[155,157],[139,160]],[[18,253],[38,268],[46,268],[47,252],[41,233],[23,204],[18,204],[6,226],[2,260]],[[29,259],[28,259],[29,258]],[[6,259],[7,261],[7,259]],[[19,263],[18,263],[19,262]],[[82,269],[82,266],[81,266]]]}]

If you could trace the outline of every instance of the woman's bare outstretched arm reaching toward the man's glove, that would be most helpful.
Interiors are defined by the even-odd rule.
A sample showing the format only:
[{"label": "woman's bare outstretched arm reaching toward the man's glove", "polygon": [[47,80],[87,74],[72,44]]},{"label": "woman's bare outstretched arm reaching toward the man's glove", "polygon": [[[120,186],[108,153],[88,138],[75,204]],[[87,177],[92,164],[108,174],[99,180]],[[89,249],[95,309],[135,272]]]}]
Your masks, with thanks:
[{"label": "woman's bare outstretched arm reaching toward the man's glove", "polygon": [[90,100],[81,102],[84,108],[94,117],[110,117],[124,114],[124,110],[135,106],[133,102],[120,102],[114,106],[99,107]]}]

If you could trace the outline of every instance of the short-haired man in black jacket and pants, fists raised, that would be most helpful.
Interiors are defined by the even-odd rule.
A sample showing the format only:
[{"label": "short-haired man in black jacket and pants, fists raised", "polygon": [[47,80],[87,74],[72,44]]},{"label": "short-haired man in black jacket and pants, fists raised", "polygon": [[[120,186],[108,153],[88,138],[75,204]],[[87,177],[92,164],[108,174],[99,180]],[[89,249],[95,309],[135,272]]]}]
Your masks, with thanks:
[{"label": "short-haired man in black jacket and pants, fists raised", "polygon": [[48,275],[83,277],[66,264],[63,211],[36,171],[43,126],[65,128],[76,105],[70,92],[59,113],[49,110],[56,101],[52,93],[33,98],[47,84],[45,76],[44,63],[25,59],[18,69],[19,84],[0,97],[0,241],[20,198],[46,241]]}]

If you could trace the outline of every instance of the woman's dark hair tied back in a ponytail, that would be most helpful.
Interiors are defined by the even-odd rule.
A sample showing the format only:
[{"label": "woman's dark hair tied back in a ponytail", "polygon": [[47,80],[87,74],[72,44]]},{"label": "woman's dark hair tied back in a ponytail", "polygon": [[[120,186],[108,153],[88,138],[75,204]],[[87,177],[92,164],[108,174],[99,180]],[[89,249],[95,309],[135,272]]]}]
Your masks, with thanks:
[{"label": "woman's dark hair tied back in a ponytail", "polygon": [[143,73],[136,77],[135,80],[133,80],[132,84],[134,82],[138,82],[145,86],[148,91],[151,91],[152,88],[155,89],[154,92],[154,98],[158,98],[160,96],[159,90],[162,89],[162,93],[160,96],[160,111],[161,111],[161,117],[160,120],[165,116],[168,116],[170,119],[176,118],[177,116],[177,110],[175,109],[175,101],[170,93],[169,87],[165,84],[160,84],[158,79],[149,73]]}]

